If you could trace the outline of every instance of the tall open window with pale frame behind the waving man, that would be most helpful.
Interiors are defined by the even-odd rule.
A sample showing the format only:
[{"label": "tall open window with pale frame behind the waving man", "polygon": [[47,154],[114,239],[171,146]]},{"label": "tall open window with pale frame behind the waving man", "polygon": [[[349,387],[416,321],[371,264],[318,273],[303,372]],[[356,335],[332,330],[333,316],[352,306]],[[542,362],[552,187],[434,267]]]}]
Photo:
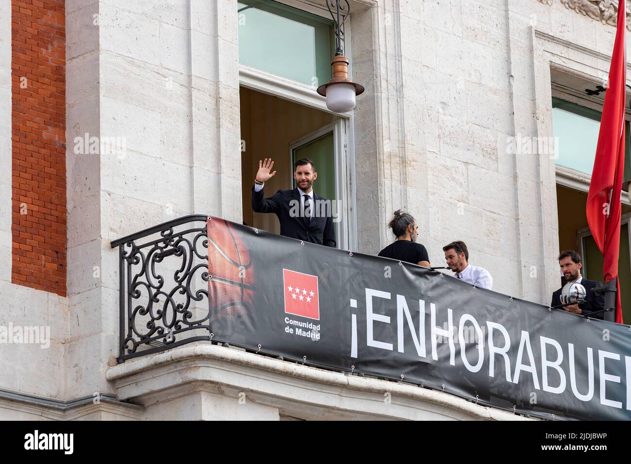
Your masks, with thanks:
[{"label": "tall open window with pale frame behind the waving man", "polygon": [[[294,188],[293,162],[311,158],[318,173],[314,191],[338,206],[338,247],[356,250],[351,114],[332,113],[315,92],[331,78],[329,12],[295,0],[239,0],[237,20],[243,222],[280,232],[276,215],[252,211],[259,160],[272,158],[277,171],[265,184],[267,197]],[[346,21],[348,31],[350,18]],[[346,52],[350,56],[348,46]]]}]

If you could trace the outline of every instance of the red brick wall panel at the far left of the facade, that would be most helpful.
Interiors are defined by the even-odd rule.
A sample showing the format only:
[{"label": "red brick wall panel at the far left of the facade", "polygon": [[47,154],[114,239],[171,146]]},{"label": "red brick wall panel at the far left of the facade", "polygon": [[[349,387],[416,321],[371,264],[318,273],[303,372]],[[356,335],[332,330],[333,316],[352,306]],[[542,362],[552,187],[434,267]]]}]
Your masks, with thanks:
[{"label": "red brick wall panel at the far left of the facade", "polygon": [[63,0],[11,0],[11,281],[66,295]]}]

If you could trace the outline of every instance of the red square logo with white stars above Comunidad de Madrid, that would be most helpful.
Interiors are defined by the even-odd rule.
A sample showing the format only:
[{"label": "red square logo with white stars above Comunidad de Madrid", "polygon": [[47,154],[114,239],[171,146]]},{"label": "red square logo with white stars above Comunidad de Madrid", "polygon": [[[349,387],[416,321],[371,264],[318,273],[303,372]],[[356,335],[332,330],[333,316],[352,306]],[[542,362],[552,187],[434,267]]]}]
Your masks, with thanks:
[{"label": "red square logo with white stars above Comunidad de Madrid", "polygon": [[317,276],[283,269],[285,312],[320,320]]}]

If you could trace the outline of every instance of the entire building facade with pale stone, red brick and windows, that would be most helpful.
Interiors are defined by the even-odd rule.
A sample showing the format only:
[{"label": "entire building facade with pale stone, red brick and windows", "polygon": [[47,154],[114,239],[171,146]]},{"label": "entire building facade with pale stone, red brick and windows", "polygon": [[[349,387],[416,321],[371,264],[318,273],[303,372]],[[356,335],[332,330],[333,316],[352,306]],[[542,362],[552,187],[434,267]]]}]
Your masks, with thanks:
[{"label": "entire building facade with pale stone, red brick and windows", "polygon": [[250,207],[263,158],[268,194],[293,186],[293,159],[317,161],[343,249],[377,254],[403,208],[433,266],[463,240],[498,292],[548,305],[560,249],[598,278],[584,203],[617,2],[349,4],[366,90],[333,114],[315,93],[333,57],[324,0],[0,0],[0,325],[42,342],[0,344],[0,417],[516,417],[210,343],[117,364],[111,242],[192,214],[278,232]]}]

